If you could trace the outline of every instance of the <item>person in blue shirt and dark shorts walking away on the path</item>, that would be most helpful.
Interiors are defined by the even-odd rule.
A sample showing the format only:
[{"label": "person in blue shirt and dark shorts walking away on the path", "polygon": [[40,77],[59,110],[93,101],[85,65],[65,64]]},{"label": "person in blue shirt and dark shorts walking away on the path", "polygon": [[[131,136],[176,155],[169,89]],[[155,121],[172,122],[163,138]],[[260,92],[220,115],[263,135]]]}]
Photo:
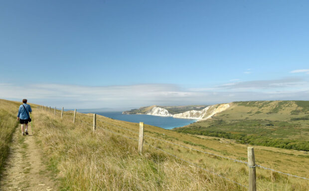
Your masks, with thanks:
[{"label": "person in blue shirt and dark shorts walking away on the path", "polygon": [[[22,100],[22,105],[19,106],[18,114],[17,114],[17,121],[21,125],[21,132],[22,135],[28,135],[28,122],[31,121],[29,112],[32,112],[31,106],[27,104],[27,100]],[[25,131],[23,131],[23,127],[25,126]]]}]

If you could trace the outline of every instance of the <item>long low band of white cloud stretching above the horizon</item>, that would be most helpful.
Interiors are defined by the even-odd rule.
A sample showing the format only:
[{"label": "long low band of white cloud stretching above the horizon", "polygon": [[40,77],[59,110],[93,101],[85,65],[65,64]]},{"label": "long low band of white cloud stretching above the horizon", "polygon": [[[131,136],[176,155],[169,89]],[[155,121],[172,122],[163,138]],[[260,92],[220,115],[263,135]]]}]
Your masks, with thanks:
[{"label": "long low band of white cloud stretching above the horizon", "polygon": [[77,86],[0,84],[0,98],[28,99],[57,108],[137,108],[147,105],[215,104],[247,100],[308,100],[309,82],[300,78],[247,81],[211,88],[182,89],[173,84]]}]

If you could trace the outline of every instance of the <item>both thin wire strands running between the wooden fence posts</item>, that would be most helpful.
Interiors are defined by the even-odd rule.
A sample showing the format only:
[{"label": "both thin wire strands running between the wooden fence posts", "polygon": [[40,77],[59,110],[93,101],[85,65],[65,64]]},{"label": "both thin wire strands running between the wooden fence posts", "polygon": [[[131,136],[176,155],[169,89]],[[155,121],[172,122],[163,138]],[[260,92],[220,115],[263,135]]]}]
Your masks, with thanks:
[{"label": "both thin wire strands running between the wooden fence posts", "polygon": [[[47,106],[46,106],[46,107],[47,107]],[[44,106],[43,106],[43,108],[44,108]],[[38,108],[38,109],[39,109],[39,108]],[[43,111],[44,111],[44,109],[43,109]],[[47,108],[46,108],[46,111],[47,111]],[[55,111],[56,111],[56,108],[55,108]],[[79,113],[79,115],[81,115],[81,116],[83,116],[83,117],[90,117],[90,118],[92,118],[92,116],[89,116],[89,115],[87,115],[87,114]],[[127,128],[124,128],[124,127],[117,126],[117,125],[112,124],[112,123],[109,123],[109,122],[107,122],[107,121],[103,121],[103,120],[100,120],[100,119],[97,119],[97,120],[100,121],[100,122],[102,122],[102,123],[108,124],[108,125],[110,125],[110,126],[117,127],[117,128],[119,128],[119,129],[123,129],[123,130],[126,130],[126,131],[128,131],[128,132],[131,132],[131,133],[134,133],[134,134],[139,135],[139,132],[135,132],[135,131],[133,131],[133,130],[130,130],[130,129],[127,129]],[[84,121],[84,122],[85,122],[85,121]],[[85,122],[85,123],[87,123],[87,122]],[[90,123],[87,123],[87,124],[93,125],[93,124],[90,124]],[[124,124],[124,125],[125,125],[125,124]],[[99,127],[99,126],[98,126],[98,127]],[[122,135],[122,134],[113,132],[113,131],[108,130],[108,129],[106,129],[106,128],[100,127],[100,129],[103,129],[103,130],[108,131],[108,132],[110,132],[110,133],[114,133],[114,134],[117,134],[117,135],[126,137],[126,138],[131,139],[131,140],[138,141],[138,139],[134,139],[134,138],[131,138],[131,137],[128,137],[128,136],[125,136],[125,135]],[[219,157],[219,158],[231,160],[231,161],[234,161],[234,162],[246,164],[247,166],[249,166],[249,165],[248,165],[248,162],[245,162],[245,161],[241,161],[241,160],[237,160],[237,159],[233,159],[233,158],[229,158],[229,157],[224,157],[224,156],[217,155],[217,154],[214,154],[214,153],[209,153],[209,152],[206,152],[206,151],[198,150],[198,149],[191,148],[191,147],[187,147],[187,146],[184,146],[184,145],[172,143],[172,142],[169,142],[169,141],[166,141],[166,140],[163,140],[163,139],[158,139],[158,138],[155,138],[155,137],[152,137],[152,136],[149,136],[149,135],[145,135],[145,137],[149,137],[149,138],[154,139],[154,140],[162,141],[162,142],[165,142],[165,143],[169,143],[169,144],[176,145],[176,146],[179,146],[179,147],[182,147],[182,148],[186,148],[186,149],[190,149],[190,150],[193,150],[193,151],[201,152],[201,153],[204,153],[204,154],[208,154],[208,155],[216,156],[216,157]],[[162,149],[159,149],[159,148],[157,148],[157,147],[155,147],[155,146],[153,146],[153,145],[150,145],[150,144],[148,144],[148,143],[145,143],[145,144],[148,145],[148,146],[150,146],[150,147],[153,147],[154,149],[157,149],[157,150],[159,150],[159,151],[161,151],[161,152],[164,152],[164,153],[166,153],[166,154],[168,154],[168,155],[170,155],[170,156],[173,156],[173,157],[175,157],[175,158],[177,158],[177,159],[179,159],[179,160],[181,160],[181,161],[184,161],[184,162],[186,162],[186,163],[188,163],[188,164],[194,165],[195,167],[200,168],[200,169],[202,169],[202,170],[204,170],[204,171],[206,171],[206,172],[209,172],[209,173],[212,173],[212,174],[214,174],[214,175],[216,175],[216,176],[218,176],[218,177],[221,177],[221,178],[223,178],[223,179],[225,179],[225,180],[227,180],[227,181],[230,181],[230,182],[233,182],[233,183],[235,183],[235,184],[237,184],[237,185],[240,185],[240,186],[242,186],[242,187],[248,188],[247,186],[244,186],[244,185],[242,185],[242,184],[240,184],[240,183],[237,183],[237,182],[235,182],[235,181],[233,181],[233,180],[230,180],[230,179],[228,179],[228,178],[226,178],[226,177],[223,177],[223,176],[221,176],[221,175],[219,175],[219,174],[216,174],[216,173],[213,172],[213,171],[209,171],[209,170],[207,170],[207,169],[205,169],[205,168],[199,167],[198,165],[196,165],[196,164],[194,164],[194,163],[192,163],[192,162],[189,162],[189,161],[187,161],[187,160],[181,159],[181,158],[179,158],[179,157],[177,157],[177,156],[175,156],[175,155],[173,155],[173,154],[171,154],[171,153],[168,153],[167,151],[164,151],[164,150],[162,150]],[[258,164],[255,165],[254,167],[259,167],[259,168],[262,168],[262,169],[265,169],[265,170],[269,170],[269,171],[272,171],[272,172],[276,172],[276,173],[279,173],[279,174],[283,174],[283,175],[287,175],[287,176],[291,176],[291,177],[295,177],[295,178],[300,178],[300,179],[304,179],[304,180],[309,180],[309,179],[306,178],[306,177],[300,177],[300,176],[297,176],[297,175],[292,175],[292,174],[289,174],[289,173],[284,173],[284,172],[277,171],[277,170],[274,170],[274,169],[271,169],[271,168],[263,167],[263,166],[258,165]]]}]

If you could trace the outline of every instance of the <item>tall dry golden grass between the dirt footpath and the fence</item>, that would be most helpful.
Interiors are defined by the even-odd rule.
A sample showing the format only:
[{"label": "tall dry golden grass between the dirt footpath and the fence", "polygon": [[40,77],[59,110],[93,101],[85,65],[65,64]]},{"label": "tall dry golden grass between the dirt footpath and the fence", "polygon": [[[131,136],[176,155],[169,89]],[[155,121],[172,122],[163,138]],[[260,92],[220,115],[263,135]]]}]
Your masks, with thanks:
[{"label": "tall dry golden grass between the dirt footpath and the fence", "polygon": [[93,134],[91,118],[78,116],[73,125],[68,112],[59,116],[39,111],[33,119],[63,190],[244,190],[147,147],[141,156],[135,141],[99,127]]}]

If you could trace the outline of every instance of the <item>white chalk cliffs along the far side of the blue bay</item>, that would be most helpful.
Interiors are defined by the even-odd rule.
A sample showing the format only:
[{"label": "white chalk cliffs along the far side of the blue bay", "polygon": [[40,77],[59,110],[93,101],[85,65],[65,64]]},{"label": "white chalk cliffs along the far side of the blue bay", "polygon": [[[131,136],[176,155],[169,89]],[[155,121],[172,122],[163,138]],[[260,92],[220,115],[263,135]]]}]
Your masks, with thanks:
[{"label": "white chalk cliffs along the far side of the blue bay", "polygon": [[184,118],[184,119],[197,119],[198,121],[207,120],[214,116],[217,113],[220,113],[227,108],[229,108],[229,104],[217,104],[208,106],[202,110],[190,110],[183,113],[178,114],[170,114],[166,109],[161,107],[153,107],[150,111],[148,111],[147,115],[155,115],[155,116],[163,116],[163,117],[174,117],[174,118]]}]

